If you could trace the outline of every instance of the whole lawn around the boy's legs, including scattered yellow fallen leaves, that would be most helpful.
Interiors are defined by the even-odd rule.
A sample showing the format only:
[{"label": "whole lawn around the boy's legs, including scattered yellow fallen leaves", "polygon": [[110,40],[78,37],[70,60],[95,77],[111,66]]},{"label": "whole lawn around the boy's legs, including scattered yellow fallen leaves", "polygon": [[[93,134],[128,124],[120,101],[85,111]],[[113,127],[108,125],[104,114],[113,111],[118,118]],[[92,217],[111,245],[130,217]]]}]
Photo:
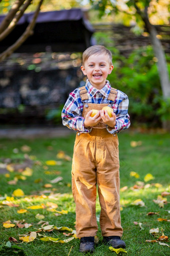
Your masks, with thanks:
[{"label": "whole lawn around the boy's legs, including scattered yellow fallen leaves", "polygon": [[[127,251],[119,255],[168,256],[170,134],[129,130],[118,137],[121,223]],[[70,184],[73,142],[74,134],[52,139],[0,139],[0,255],[83,255],[78,252],[78,238],[62,242],[73,237],[65,233],[75,229]],[[17,196],[16,189],[24,194]],[[99,212],[97,199],[97,220]],[[154,214],[147,215],[149,212]],[[7,220],[10,223],[3,223]],[[7,224],[14,225],[7,228]],[[152,228],[157,228],[155,234],[149,233]],[[32,241],[22,241],[30,232]],[[99,222],[97,237],[92,255],[116,255],[102,244]]]}]

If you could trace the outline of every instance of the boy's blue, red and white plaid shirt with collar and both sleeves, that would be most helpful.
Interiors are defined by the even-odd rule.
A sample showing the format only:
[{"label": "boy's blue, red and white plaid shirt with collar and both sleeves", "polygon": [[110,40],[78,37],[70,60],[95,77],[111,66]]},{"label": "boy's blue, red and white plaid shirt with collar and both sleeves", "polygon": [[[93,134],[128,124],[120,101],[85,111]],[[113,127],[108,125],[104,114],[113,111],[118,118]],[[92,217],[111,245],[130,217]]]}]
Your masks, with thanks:
[{"label": "boy's blue, red and white plaid shirt with collar and both sleeves", "polygon": [[62,124],[64,126],[80,133],[91,131],[92,128],[84,128],[84,118],[81,116],[84,103],[106,103],[112,106],[113,112],[116,115],[116,124],[114,128],[106,127],[109,133],[114,134],[130,126],[129,115],[127,113],[128,98],[123,92],[117,90],[116,100],[112,102],[107,99],[111,88],[109,81],[106,80],[105,86],[101,90],[97,90],[87,79],[85,88],[87,90],[88,100],[84,100],[83,102],[80,98],[79,88],[69,94],[61,113]]}]

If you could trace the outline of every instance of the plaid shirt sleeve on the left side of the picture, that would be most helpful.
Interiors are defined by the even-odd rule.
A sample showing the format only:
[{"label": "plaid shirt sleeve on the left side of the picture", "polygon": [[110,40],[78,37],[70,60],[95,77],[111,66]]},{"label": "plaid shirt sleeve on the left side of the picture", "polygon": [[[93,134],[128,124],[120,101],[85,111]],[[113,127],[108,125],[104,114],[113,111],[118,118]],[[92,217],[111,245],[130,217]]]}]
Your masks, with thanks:
[{"label": "plaid shirt sleeve on the left side of the picture", "polygon": [[69,97],[62,109],[62,124],[69,129],[88,133],[91,129],[84,128],[84,118],[81,116],[83,104],[78,89],[69,94]]}]

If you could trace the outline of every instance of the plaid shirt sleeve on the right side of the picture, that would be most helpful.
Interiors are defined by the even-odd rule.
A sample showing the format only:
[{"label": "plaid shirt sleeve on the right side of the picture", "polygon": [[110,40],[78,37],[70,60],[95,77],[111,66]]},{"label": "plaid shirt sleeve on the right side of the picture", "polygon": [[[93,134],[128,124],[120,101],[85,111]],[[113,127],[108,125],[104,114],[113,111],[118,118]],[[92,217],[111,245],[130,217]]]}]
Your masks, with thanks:
[{"label": "plaid shirt sleeve on the right side of the picture", "polygon": [[119,97],[117,111],[116,111],[116,120],[114,128],[107,126],[107,131],[111,134],[120,132],[121,130],[127,129],[130,126],[128,111],[128,97],[123,94],[124,97]]}]

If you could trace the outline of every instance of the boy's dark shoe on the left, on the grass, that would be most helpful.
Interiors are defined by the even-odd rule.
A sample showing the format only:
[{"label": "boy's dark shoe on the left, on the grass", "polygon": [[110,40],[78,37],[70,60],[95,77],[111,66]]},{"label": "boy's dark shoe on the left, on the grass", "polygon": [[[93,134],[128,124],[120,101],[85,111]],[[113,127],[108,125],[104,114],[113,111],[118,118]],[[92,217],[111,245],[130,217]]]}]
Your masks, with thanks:
[{"label": "boy's dark shoe on the left, on the grass", "polygon": [[81,237],[79,251],[92,253],[94,251],[94,237],[93,236]]}]

